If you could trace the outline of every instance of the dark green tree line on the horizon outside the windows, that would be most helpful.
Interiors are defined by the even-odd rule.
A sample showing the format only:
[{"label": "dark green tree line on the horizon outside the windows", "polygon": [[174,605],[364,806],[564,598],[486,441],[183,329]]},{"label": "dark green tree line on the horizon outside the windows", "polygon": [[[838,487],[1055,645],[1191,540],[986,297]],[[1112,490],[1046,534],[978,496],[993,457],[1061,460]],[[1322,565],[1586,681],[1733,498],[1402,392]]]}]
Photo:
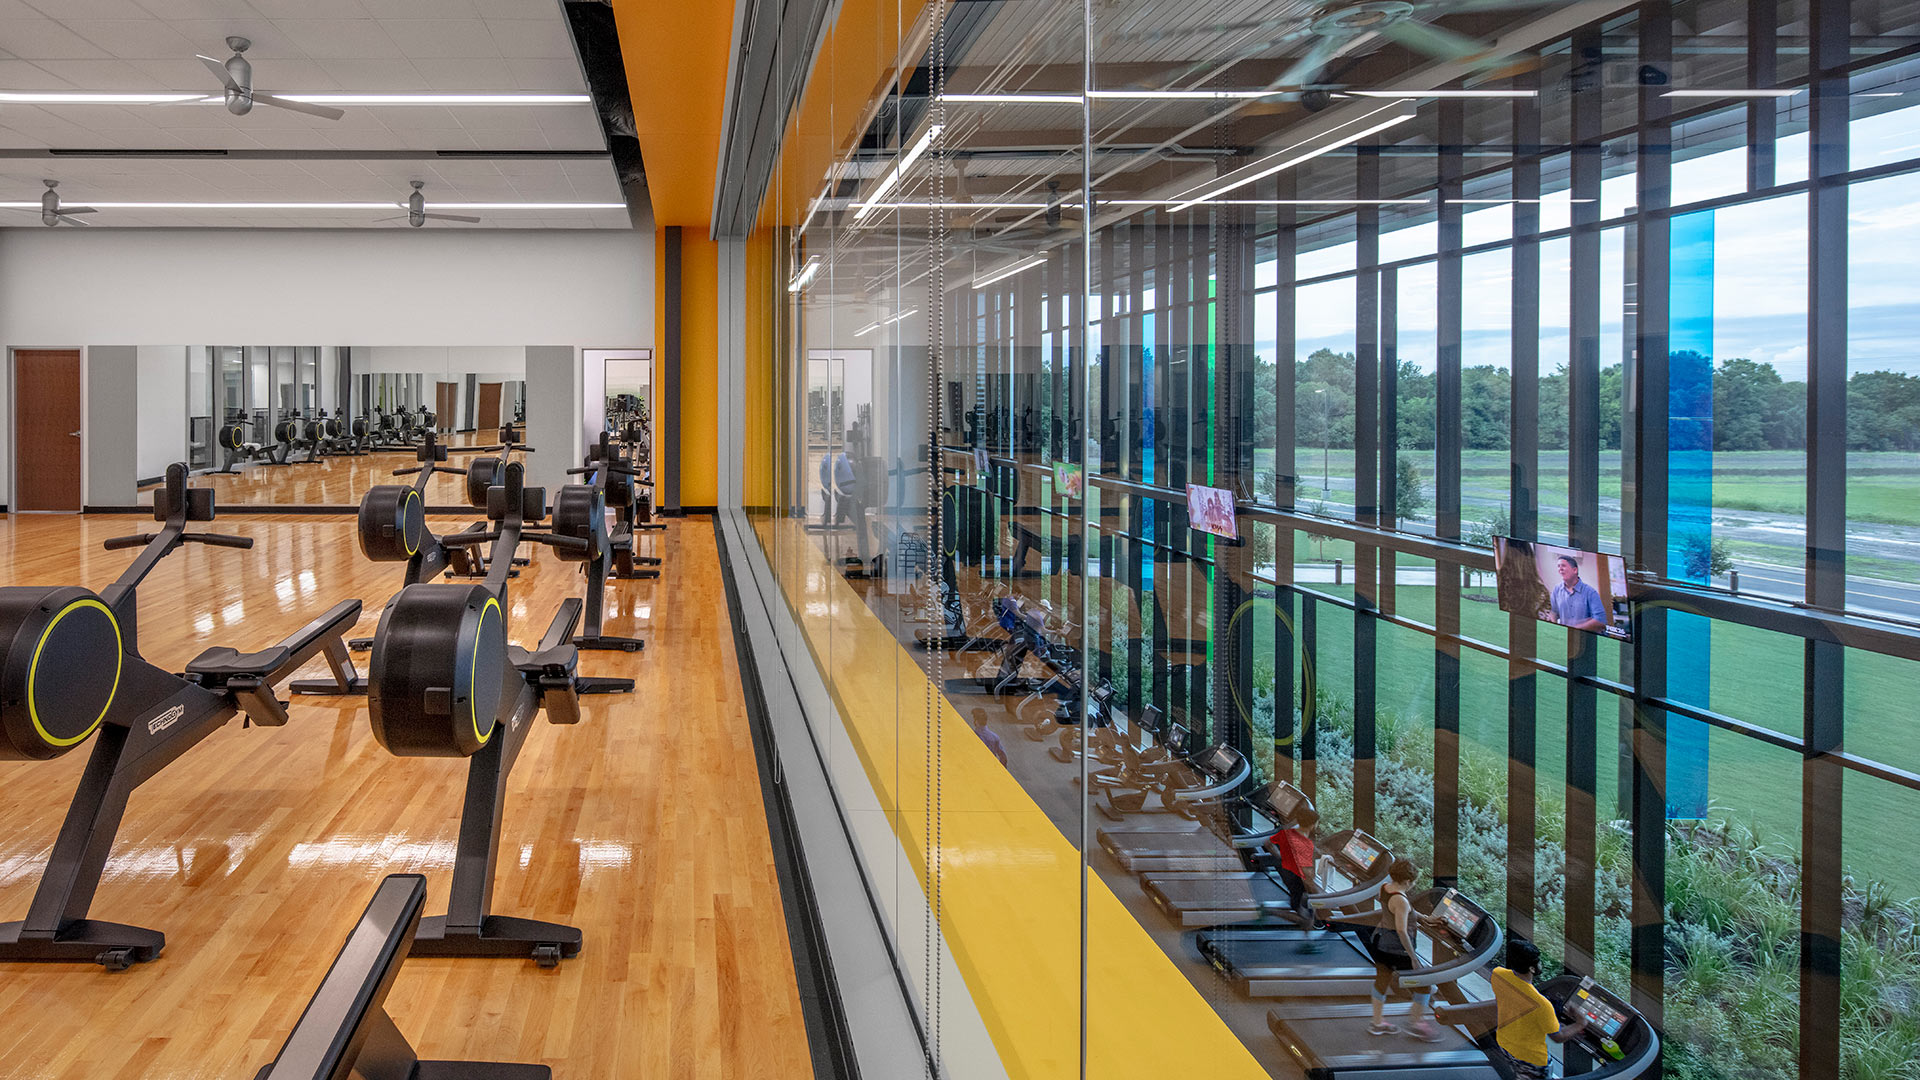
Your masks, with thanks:
[{"label": "dark green tree line on the horizon outside the windows", "polygon": [[[1674,361],[1701,363],[1699,354]],[[1275,379],[1269,359],[1254,382],[1256,438],[1275,440]],[[1513,375],[1501,367],[1463,367],[1461,438],[1467,450],[1507,450],[1513,423]],[[1402,361],[1396,379],[1398,434],[1405,450],[1434,446],[1438,375]],[[1599,369],[1599,446],[1620,450],[1620,402],[1626,371]],[[1567,365],[1540,377],[1540,448],[1567,450]],[[1315,350],[1294,369],[1298,446],[1354,446],[1354,354]],[[1713,365],[1715,450],[1807,450],[1807,384],[1782,379],[1772,363],[1732,357]],[[1847,379],[1847,450],[1920,450],[1920,375],[1859,371]]]}]

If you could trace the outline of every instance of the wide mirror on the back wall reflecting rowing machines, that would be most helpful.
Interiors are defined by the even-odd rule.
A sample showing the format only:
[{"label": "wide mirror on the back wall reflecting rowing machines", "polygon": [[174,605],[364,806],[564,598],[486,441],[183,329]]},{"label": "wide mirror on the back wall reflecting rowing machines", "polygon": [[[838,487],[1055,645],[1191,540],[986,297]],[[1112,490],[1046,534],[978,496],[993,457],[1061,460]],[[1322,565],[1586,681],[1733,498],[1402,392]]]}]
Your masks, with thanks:
[{"label": "wide mirror on the back wall reflecting rowing machines", "polygon": [[[353,505],[420,448],[524,440],[524,346],[142,346],[142,398],[184,384],[184,417],[142,417],[138,482],[173,461],[228,505]],[[430,477],[430,505],[463,505]]]}]

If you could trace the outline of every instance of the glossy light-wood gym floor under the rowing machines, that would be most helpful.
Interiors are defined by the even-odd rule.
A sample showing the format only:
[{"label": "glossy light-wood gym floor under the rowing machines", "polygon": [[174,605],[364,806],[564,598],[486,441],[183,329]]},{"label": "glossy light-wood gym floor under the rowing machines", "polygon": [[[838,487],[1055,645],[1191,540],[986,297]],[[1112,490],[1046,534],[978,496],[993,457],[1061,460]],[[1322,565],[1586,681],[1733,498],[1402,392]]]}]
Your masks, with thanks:
[{"label": "glossy light-wood gym floor under the rowing machines", "polygon": [[[140,528],[4,517],[0,582],[98,590],[134,555],[100,542]],[[169,669],[265,648],[344,598],[371,632],[401,577],[359,555],[349,515],[196,528],[257,544],[188,546],[142,586],[142,650]],[[586,947],[557,970],[407,961],[388,1009],[422,1057],[547,1063],[559,1080],[810,1074],[712,525],[647,542],[666,575],[614,582],[607,621],[645,651],[580,663],[637,692],[586,698],[580,726],[540,721],[505,809],[493,911],[572,922]],[[522,644],[580,588],[572,565],[534,559],[509,590]],[[25,915],[86,749],[0,761],[0,919]],[[298,698],[284,728],[232,721],[134,792],[92,905],[165,932],[165,953],[121,974],[0,965],[0,1078],[252,1076],[384,874],[424,872],[426,911],[445,911],[465,776],[380,749],[363,700]]]}]

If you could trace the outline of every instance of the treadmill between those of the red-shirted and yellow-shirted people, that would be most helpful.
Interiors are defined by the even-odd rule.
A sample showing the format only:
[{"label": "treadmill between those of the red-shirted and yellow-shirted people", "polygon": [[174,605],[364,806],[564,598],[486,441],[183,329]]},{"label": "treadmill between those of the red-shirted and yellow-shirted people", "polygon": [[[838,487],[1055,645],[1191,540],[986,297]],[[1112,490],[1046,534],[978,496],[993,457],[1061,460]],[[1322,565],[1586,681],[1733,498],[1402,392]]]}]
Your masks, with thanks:
[{"label": "treadmill between those of the red-shirted and yellow-shirted people", "polygon": [[[1446,920],[1448,930],[1427,934],[1430,959],[1402,972],[1404,986],[1448,986],[1500,955],[1505,936],[1480,905],[1440,888],[1411,899],[1413,911]],[[1313,951],[1313,944],[1306,930],[1260,926],[1204,930],[1196,938],[1200,955],[1248,997],[1363,999],[1373,994],[1373,959],[1352,934],[1321,934],[1321,951]]]}]

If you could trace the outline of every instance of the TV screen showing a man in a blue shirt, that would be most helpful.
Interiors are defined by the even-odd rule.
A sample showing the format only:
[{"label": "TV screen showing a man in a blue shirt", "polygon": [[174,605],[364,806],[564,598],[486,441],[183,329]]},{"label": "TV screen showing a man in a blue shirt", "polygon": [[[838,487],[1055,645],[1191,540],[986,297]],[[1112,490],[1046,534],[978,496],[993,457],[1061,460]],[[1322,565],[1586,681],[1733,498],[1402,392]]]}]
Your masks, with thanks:
[{"label": "TV screen showing a man in a blue shirt", "polygon": [[1538,540],[1494,538],[1500,609],[1609,638],[1632,638],[1626,561]]}]

